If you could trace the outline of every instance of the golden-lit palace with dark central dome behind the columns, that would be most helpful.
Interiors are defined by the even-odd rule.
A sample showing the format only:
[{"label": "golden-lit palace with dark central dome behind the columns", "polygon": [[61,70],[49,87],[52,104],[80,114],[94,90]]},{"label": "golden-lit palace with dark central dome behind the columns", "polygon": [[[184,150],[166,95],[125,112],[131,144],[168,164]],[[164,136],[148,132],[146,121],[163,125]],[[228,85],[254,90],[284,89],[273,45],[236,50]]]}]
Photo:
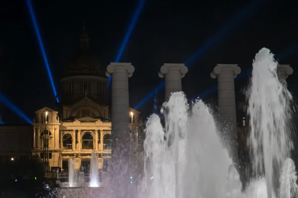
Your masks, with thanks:
[{"label": "golden-lit palace with dark central dome behind the columns", "polygon": [[[32,126],[26,125],[26,129],[14,127],[17,142],[28,142],[26,156],[38,155],[49,161],[50,168],[62,169],[68,169],[68,160],[74,158],[76,169],[88,169],[91,152],[94,151],[98,167],[105,167],[111,158],[112,134],[111,113],[107,105],[108,79],[102,70],[105,68],[92,54],[88,34],[83,28],[78,53],[67,65],[61,79],[62,97],[57,109],[44,107],[35,112]],[[144,125],[139,111],[130,108],[129,116],[131,154],[134,155],[143,148]],[[5,124],[0,128],[0,148],[9,148],[2,154],[5,159],[17,155],[25,147],[18,148],[15,147],[17,143],[13,143],[11,147],[15,149],[10,149],[3,145],[2,140],[7,141],[6,136],[12,136],[8,131]],[[15,153],[10,150],[15,150]]]}]

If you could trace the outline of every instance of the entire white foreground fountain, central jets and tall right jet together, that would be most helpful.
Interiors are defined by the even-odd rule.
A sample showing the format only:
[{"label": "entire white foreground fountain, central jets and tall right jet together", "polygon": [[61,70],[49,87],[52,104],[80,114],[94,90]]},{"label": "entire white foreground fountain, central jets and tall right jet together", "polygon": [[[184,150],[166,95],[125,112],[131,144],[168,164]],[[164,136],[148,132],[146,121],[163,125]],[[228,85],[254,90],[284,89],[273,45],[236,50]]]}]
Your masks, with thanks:
[{"label": "entire white foreground fountain, central jets and tall right jet together", "polygon": [[268,49],[256,54],[248,90],[255,179],[244,193],[209,107],[199,99],[189,105],[185,95],[176,92],[163,104],[165,126],[155,114],[147,122],[145,176],[139,197],[297,197],[295,165],[287,158],[293,149],[292,97],[278,79],[277,66]]}]

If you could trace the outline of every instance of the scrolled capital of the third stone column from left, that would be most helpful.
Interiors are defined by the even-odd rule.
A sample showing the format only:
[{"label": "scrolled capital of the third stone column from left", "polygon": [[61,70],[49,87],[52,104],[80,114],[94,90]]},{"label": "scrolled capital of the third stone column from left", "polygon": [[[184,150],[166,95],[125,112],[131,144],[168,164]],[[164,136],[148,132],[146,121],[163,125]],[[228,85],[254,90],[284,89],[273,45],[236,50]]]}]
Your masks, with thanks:
[{"label": "scrolled capital of the third stone column from left", "polygon": [[238,64],[217,64],[217,66],[213,69],[213,71],[210,73],[210,76],[212,78],[217,78],[218,75],[221,74],[233,74],[234,78],[238,74],[240,74],[241,69],[238,67]]}]

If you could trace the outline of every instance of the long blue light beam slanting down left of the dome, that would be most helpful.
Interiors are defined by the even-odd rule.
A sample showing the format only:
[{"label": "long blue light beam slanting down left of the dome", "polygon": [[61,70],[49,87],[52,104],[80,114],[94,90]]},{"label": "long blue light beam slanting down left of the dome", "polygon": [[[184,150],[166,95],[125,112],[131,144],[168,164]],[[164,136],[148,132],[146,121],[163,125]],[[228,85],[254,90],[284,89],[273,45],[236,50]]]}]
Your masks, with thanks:
[{"label": "long blue light beam slanting down left of the dome", "polygon": [[40,47],[40,50],[41,50],[41,53],[42,53],[42,56],[43,56],[43,59],[44,59],[45,65],[46,65],[46,69],[47,69],[48,76],[49,76],[49,79],[50,79],[50,82],[51,82],[51,86],[52,86],[52,89],[53,89],[53,92],[54,92],[54,97],[56,98],[56,101],[59,102],[59,99],[58,99],[58,96],[57,96],[57,91],[56,91],[55,84],[54,84],[54,80],[53,80],[52,73],[51,73],[51,70],[50,70],[48,58],[47,58],[47,55],[46,55],[46,52],[45,52],[45,49],[44,49],[44,45],[43,45],[42,40],[41,40],[40,33],[39,33],[39,29],[38,29],[37,21],[36,21],[35,14],[34,14],[34,11],[33,11],[33,7],[32,7],[32,4],[31,4],[30,0],[26,0],[26,2],[27,2],[28,9],[29,9],[30,17],[31,17],[31,20],[32,20],[32,23],[33,23],[33,27],[34,27],[34,30],[35,30],[35,33],[36,33],[36,36],[37,36],[39,47]]}]

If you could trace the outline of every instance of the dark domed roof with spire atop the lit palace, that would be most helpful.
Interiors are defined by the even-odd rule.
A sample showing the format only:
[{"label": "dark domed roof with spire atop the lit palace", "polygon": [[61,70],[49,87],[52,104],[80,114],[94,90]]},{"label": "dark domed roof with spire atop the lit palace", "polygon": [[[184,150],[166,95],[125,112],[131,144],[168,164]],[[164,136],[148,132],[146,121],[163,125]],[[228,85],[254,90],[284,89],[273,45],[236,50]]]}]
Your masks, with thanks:
[{"label": "dark domed roof with spire atop the lit palace", "polygon": [[75,72],[77,75],[83,73],[92,73],[92,75],[104,76],[101,70],[99,59],[91,52],[89,48],[89,37],[83,27],[83,32],[79,39],[79,50],[72,58],[67,67],[66,73]]}]

